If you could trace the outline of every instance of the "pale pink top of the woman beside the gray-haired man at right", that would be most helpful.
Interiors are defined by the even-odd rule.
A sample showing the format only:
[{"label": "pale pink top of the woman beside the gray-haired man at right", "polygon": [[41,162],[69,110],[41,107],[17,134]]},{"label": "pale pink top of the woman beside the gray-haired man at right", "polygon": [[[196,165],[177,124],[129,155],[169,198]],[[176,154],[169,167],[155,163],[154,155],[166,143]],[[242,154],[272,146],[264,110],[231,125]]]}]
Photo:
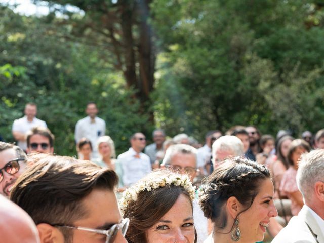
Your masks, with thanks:
[{"label": "pale pink top of the woman beside the gray-haired man at right", "polygon": [[279,188],[281,193],[287,194],[288,198],[291,199],[291,210],[294,216],[298,215],[299,211],[302,209],[302,207],[297,204],[297,201],[295,201],[294,198],[290,196],[290,193],[298,191],[296,175],[297,170],[293,167],[289,167],[289,169],[285,172],[284,176],[281,179]]}]

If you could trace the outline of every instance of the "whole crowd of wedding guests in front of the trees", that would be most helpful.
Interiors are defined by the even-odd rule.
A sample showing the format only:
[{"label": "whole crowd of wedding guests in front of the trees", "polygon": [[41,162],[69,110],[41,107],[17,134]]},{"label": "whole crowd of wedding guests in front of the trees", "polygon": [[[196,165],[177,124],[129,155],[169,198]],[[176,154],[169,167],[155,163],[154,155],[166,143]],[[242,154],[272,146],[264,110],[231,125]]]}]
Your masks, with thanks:
[{"label": "whole crowd of wedding guests in front of the trees", "polygon": [[[0,142],[0,194],[15,203],[0,197],[0,242],[252,243],[266,231],[273,242],[324,242],[324,130],[295,139],[235,126],[201,145],[156,129],[154,143],[136,132],[116,156],[90,102],[75,127],[77,159],[53,155],[36,111],[27,104],[14,121],[18,146]],[[10,222],[22,226],[8,241]]]}]

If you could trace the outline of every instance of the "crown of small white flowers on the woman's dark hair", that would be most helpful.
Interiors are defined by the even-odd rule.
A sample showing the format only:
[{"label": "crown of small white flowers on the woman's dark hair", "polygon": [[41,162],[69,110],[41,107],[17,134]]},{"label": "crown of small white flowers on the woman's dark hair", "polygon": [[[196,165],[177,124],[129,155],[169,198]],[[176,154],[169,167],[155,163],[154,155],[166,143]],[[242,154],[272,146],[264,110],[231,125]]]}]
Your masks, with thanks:
[{"label": "crown of small white flowers on the woman's dark hair", "polygon": [[[158,181],[157,181],[158,179]],[[119,200],[119,208],[124,215],[127,206],[137,200],[137,195],[141,191],[151,191],[159,187],[174,184],[175,186],[183,187],[188,193],[190,198],[195,198],[195,186],[192,186],[191,181],[187,175],[168,175],[166,177],[150,178],[150,180],[140,180],[134,186],[126,189],[123,192],[123,197]]]}]

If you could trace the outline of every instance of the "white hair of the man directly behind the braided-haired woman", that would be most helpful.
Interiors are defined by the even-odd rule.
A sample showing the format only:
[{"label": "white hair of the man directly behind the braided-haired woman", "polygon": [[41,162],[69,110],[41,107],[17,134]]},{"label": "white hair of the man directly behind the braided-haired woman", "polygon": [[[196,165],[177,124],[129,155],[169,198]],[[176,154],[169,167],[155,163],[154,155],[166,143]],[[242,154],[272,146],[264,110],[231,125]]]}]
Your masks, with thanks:
[{"label": "white hair of the man directly behind the braided-haired woman", "polygon": [[215,154],[217,151],[231,151],[233,156],[242,156],[244,155],[243,143],[236,136],[225,135],[217,139],[213,143],[213,161],[215,160]]}]

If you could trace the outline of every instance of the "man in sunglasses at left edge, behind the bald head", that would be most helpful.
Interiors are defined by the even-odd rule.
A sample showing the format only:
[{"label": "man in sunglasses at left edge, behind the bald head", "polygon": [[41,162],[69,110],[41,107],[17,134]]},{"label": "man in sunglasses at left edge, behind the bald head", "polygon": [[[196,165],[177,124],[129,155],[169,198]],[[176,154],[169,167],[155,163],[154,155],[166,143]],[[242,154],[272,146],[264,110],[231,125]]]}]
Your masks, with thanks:
[{"label": "man in sunglasses at left edge, behind the bald head", "polygon": [[0,142],[0,194],[9,197],[17,178],[25,171],[26,158],[20,147]]}]

